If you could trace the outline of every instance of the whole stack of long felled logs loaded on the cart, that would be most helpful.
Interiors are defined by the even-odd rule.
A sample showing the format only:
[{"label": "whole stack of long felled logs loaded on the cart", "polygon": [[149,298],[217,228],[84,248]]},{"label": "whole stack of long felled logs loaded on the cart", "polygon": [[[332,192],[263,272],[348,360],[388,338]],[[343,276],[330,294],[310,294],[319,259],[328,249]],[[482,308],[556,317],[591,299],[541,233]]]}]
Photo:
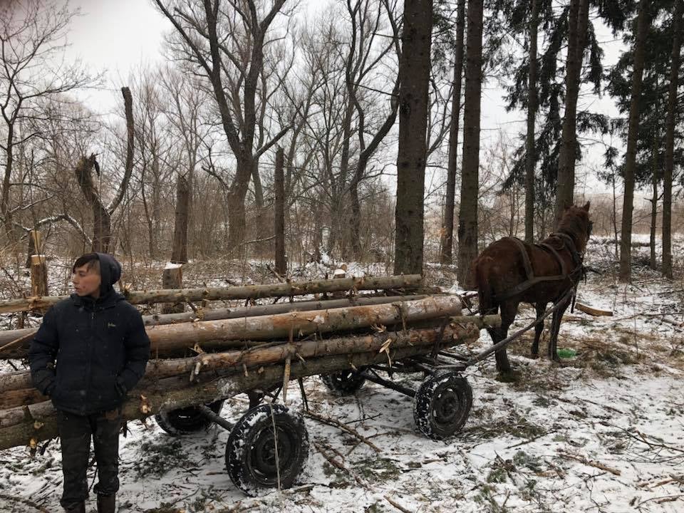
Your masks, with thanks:
[{"label": "whole stack of long felled logs loaded on the cart", "polygon": [[[345,299],[293,301],[294,296],[345,291]],[[358,294],[374,291],[374,294]],[[413,292],[413,295],[408,292]],[[123,405],[127,420],[266,390],[307,375],[387,363],[474,341],[480,325],[460,318],[455,296],[424,292],[419,275],[333,279],[128,292],[133,304],[286,298],[281,304],[195,308],[143,316],[151,358]],[[402,294],[402,295],[400,295]],[[47,308],[61,297],[0,301],[0,313]],[[0,332],[0,359],[25,358],[35,328]],[[192,355],[192,356],[190,356]],[[0,450],[36,447],[56,436],[55,410],[31,385],[28,371],[0,373]]]}]

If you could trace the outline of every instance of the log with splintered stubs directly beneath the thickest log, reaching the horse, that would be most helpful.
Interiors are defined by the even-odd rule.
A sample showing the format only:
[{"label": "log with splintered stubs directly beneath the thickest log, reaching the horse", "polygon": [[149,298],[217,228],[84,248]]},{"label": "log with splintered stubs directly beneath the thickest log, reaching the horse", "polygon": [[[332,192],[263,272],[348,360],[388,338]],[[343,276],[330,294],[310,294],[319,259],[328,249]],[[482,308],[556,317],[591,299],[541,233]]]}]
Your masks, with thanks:
[{"label": "log with splintered stubs directly beneath the thickest log, reaching the horse", "polygon": [[[471,320],[475,320],[475,322],[470,322]],[[484,320],[479,317],[452,318],[451,325],[445,328],[441,337],[443,341],[455,340],[463,336],[464,333],[480,329],[482,322],[487,323],[487,326],[492,326],[497,321],[500,323],[499,316],[487,316]],[[199,373],[239,372],[244,368],[281,363],[288,358],[301,357],[306,359],[333,354],[378,351],[390,338],[394,347],[407,344],[425,346],[435,343],[440,338],[441,332],[441,328],[410,329],[402,332],[390,331],[374,335],[328,338],[321,341],[269,344],[244,351],[202,353],[193,358],[152,360],[147,363],[145,377],[140,381],[139,388],[146,388],[155,380],[174,375],[183,375],[185,382],[189,383],[190,380],[197,380]],[[30,373],[21,374],[20,377],[19,373],[13,373],[11,375],[12,380],[9,383],[4,383],[4,376],[0,375],[0,410],[46,400],[45,396],[32,388]],[[190,376],[190,379],[187,376]],[[7,385],[14,385],[16,388],[9,388]]]}]

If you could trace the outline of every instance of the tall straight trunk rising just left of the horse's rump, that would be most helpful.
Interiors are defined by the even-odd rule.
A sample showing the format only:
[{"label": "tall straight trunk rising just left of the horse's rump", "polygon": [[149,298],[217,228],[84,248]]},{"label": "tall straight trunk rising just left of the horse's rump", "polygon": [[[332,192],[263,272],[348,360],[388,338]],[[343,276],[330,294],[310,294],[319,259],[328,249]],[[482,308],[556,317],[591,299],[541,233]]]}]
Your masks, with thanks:
[{"label": "tall straight trunk rising just left of the horse's rump", "polygon": [[480,188],[480,100],[482,93],[482,0],[468,2],[465,53],[463,165],[458,213],[457,279],[470,284],[470,265],[477,257],[477,197]]}]

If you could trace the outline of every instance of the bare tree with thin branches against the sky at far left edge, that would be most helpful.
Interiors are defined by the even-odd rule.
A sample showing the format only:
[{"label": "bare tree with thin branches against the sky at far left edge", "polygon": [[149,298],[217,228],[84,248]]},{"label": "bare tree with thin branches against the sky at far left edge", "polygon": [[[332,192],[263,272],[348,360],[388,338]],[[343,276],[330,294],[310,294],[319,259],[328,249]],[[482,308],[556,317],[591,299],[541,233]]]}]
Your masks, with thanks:
[{"label": "bare tree with thin branches against the sky at far left edge", "polygon": [[4,122],[0,216],[10,237],[16,147],[44,135],[29,127],[31,120],[41,117],[50,98],[95,81],[80,66],[69,66],[60,58],[75,14],[66,3],[55,6],[42,0],[7,2],[0,8],[0,113]]}]

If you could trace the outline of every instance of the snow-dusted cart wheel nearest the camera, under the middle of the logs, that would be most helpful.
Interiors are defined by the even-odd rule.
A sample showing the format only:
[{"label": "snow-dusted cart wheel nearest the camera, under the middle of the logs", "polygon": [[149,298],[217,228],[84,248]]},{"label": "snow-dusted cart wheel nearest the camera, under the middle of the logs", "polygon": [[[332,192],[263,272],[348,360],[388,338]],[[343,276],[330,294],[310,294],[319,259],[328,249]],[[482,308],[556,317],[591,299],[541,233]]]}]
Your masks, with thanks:
[{"label": "snow-dusted cart wheel nearest the camera, under the middle of the logs", "polygon": [[291,487],[308,457],[309,434],[304,419],[283,405],[263,404],[249,410],[237,421],[226,444],[228,475],[235,486],[252,497],[262,489],[278,487],[279,478],[281,488]]}]

